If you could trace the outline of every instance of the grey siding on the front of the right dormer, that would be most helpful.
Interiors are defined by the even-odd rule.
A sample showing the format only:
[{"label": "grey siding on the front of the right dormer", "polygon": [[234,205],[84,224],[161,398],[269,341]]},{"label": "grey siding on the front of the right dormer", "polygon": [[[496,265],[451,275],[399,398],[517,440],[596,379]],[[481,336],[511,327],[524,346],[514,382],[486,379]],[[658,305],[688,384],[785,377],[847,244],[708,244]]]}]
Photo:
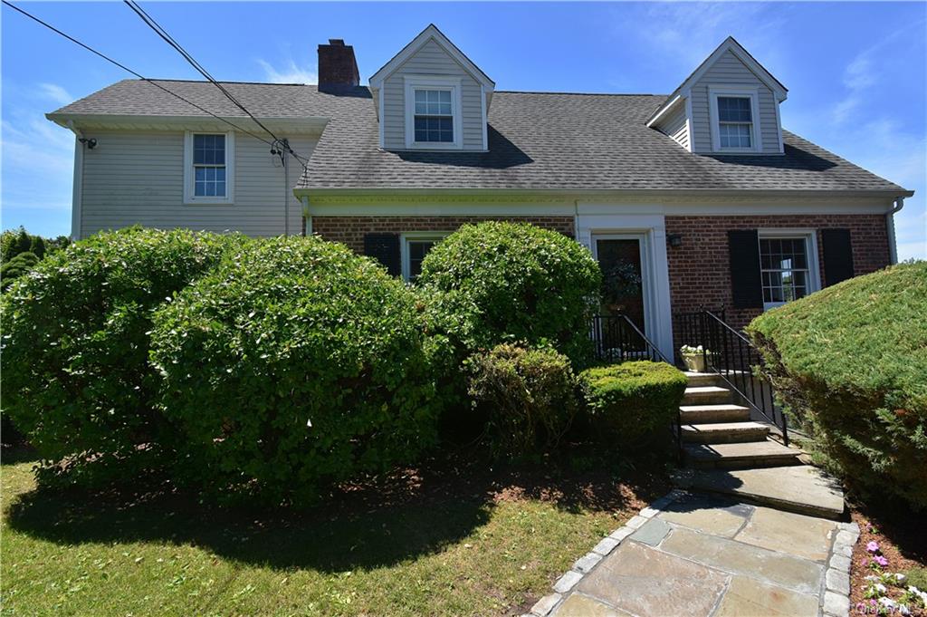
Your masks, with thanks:
[{"label": "grey siding on the front of the right dormer", "polygon": [[779,121],[776,98],[772,91],[753,71],[744,66],[732,52],[725,52],[705,71],[702,79],[692,85],[692,151],[712,152],[711,113],[709,113],[708,87],[741,86],[756,88],[757,114],[754,118],[759,142],[764,154],[778,154],[780,150]]}]

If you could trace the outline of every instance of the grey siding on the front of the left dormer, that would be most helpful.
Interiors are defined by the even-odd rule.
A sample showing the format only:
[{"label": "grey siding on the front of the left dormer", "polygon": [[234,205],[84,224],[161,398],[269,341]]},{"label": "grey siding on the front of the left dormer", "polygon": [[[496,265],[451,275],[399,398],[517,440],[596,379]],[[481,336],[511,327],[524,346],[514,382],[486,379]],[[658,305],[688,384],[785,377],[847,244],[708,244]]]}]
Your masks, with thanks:
[{"label": "grey siding on the front of the left dormer", "polygon": [[403,78],[427,75],[460,78],[463,148],[483,149],[483,109],[480,84],[433,39],[422,45],[421,49],[383,82],[384,147],[387,149],[406,148]]}]

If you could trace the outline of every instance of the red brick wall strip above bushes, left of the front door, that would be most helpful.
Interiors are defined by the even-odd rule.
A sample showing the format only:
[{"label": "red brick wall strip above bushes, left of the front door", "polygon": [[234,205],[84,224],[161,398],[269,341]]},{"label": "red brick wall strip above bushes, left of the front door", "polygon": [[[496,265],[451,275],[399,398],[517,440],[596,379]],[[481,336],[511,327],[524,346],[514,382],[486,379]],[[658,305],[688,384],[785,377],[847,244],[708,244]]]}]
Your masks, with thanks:
[{"label": "red brick wall strip above bushes, left of the front door", "polygon": [[531,223],[575,237],[572,216],[313,216],[312,233],[363,252],[364,234],[453,231],[466,223],[483,221]]}]

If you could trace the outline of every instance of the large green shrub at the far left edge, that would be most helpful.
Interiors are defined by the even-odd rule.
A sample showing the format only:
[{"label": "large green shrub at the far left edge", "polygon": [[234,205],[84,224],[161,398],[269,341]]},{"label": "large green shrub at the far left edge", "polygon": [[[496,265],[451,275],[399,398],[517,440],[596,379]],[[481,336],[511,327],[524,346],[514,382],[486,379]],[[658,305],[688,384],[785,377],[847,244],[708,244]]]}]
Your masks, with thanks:
[{"label": "large green shrub at the far left edge", "polygon": [[[153,408],[151,312],[217,264],[229,241],[140,228],[99,234],[47,256],[3,295],[4,412],[46,463],[131,476],[135,462],[162,453],[170,431]],[[89,459],[97,464],[84,468]]]}]

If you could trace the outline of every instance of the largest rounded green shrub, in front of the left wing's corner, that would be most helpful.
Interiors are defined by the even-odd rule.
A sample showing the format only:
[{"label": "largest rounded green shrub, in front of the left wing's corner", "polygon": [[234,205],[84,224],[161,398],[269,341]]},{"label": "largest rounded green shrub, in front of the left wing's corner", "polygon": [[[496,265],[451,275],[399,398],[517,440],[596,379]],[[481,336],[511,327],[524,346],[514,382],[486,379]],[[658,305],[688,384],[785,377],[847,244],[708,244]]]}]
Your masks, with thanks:
[{"label": "largest rounded green shrub, in front of the left wing's corner", "polygon": [[256,241],[155,316],[177,477],[223,500],[311,501],[410,461],[436,401],[414,291],[320,238]]}]

